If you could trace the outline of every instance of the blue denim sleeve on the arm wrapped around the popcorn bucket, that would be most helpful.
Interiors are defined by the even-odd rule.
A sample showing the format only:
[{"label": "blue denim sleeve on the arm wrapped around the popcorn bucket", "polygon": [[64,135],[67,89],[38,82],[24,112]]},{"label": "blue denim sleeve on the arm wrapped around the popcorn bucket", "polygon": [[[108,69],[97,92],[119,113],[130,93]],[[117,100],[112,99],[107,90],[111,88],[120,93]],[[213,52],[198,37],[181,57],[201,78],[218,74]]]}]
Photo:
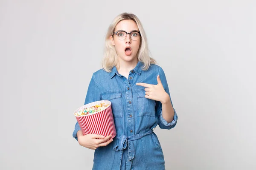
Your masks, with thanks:
[{"label": "blue denim sleeve on the arm wrapped around the popcorn bucket", "polygon": [[[99,86],[98,86],[98,83],[95,79],[95,75],[93,74],[93,76],[90,80],[88,90],[87,90],[84,105],[86,105],[88,103],[91,103],[91,102],[99,101],[99,100],[101,100]],[[76,134],[79,130],[81,130],[81,127],[79,126],[78,122],[76,122],[75,130],[73,131],[73,137],[76,140],[77,140],[77,135]]]}]

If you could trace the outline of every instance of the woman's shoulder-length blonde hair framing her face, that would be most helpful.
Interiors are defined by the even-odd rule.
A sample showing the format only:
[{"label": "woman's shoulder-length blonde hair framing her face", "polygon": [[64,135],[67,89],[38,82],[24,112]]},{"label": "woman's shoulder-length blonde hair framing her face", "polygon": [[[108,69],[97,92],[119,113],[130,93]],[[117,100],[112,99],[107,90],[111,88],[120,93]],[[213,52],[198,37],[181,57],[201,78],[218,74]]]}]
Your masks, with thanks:
[{"label": "woman's shoulder-length blonde hair framing her face", "polygon": [[122,20],[133,20],[135,23],[137,23],[137,26],[141,34],[141,41],[137,53],[137,58],[140,62],[143,62],[143,70],[148,70],[150,64],[156,64],[156,61],[155,59],[149,56],[148,42],[145,35],[145,31],[139,18],[134,14],[126,12],[119,14],[108,27],[108,31],[105,36],[105,49],[104,57],[102,59],[102,68],[107,72],[111,72],[113,66],[118,64],[118,55],[116,54],[115,47],[111,44],[110,37],[113,35],[116,25]]}]

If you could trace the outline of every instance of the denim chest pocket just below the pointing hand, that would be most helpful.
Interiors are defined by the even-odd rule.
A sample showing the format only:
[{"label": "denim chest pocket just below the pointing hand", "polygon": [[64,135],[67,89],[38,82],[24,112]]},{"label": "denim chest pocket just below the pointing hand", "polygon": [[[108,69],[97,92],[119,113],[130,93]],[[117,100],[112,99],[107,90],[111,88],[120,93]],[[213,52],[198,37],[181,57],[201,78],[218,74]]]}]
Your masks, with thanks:
[{"label": "denim chest pocket just below the pointing hand", "polygon": [[138,116],[155,116],[156,102],[145,98],[145,91],[137,91]]}]

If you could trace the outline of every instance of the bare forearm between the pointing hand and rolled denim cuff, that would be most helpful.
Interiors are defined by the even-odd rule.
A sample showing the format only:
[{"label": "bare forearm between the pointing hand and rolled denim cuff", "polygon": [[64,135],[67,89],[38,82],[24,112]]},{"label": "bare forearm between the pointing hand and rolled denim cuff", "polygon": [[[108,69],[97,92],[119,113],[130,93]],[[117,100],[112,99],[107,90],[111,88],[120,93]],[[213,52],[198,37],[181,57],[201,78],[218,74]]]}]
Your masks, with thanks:
[{"label": "bare forearm between the pointing hand and rolled denim cuff", "polygon": [[174,110],[172,108],[172,103],[169,94],[163,97],[162,103],[162,116],[168,123],[173,121]]}]

